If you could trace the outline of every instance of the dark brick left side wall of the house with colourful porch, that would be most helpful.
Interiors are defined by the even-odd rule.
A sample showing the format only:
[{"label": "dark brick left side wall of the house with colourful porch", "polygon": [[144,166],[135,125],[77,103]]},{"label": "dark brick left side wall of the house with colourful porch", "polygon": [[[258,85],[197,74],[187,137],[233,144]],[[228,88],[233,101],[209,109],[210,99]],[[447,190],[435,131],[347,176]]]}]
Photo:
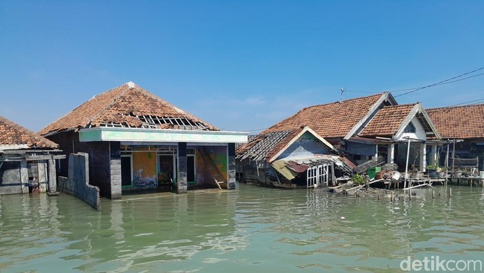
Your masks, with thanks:
[{"label": "dark brick left side wall of the house with colourful porch", "polygon": [[[89,154],[89,184],[100,188],[102,196],[111,197],[111,162],[109,142],[80,142],[79,133],[74,131],[49,135],[49,140],[59,144],[66,158],[71,153]],[[60,176],[68,176],[68,160],[61,160]]]}]

